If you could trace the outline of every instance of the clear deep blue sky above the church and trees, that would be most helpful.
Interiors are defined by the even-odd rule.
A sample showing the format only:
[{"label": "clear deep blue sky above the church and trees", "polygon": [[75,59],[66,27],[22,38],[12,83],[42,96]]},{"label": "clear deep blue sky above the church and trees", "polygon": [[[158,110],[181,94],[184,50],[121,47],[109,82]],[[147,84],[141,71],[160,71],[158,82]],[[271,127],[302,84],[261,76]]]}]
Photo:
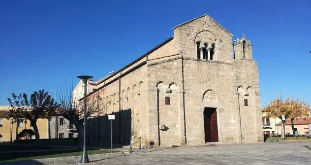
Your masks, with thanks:
[{"label": "clear deep blue sky above the church and trees", "polygon": [[117,71],[205,13],[252,41],[262,107],[280,93],[311,103],[310,0],[1,0],[0,105]]}]

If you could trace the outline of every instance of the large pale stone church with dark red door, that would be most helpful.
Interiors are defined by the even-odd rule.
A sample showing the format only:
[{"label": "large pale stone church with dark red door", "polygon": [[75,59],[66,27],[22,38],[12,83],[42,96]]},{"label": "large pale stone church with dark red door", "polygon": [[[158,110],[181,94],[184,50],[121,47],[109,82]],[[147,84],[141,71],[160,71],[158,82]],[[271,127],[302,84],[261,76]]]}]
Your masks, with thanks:
[{"label": "large pale stone church with dark red door", "polygon": [[[252,44],[207,14],[119,71],[88,82],[106,114],[90,119],[91,138],[165,147],[263,141],[259,77]],[[233,40],[233,41],[232,41]],[[78,86],[77,86],[78,87]],[[83,98],[80,99],[82,101]],[[130,137],[132,139],[130,140]]]}]

